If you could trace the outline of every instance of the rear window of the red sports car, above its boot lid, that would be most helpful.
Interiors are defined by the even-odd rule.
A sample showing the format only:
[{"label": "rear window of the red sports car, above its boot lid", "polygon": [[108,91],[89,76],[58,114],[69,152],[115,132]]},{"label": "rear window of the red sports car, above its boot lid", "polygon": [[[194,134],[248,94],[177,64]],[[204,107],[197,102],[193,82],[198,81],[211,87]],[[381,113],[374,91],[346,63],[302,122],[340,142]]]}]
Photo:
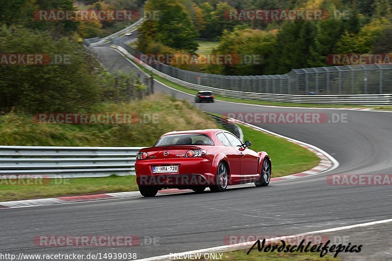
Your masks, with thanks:
[{"label": "rear window of the red sports car, above its boot lid", "polygon": [[154,147],[172,145],[214,145],[214,142],[204,134],[172,134],[161,137]]}]

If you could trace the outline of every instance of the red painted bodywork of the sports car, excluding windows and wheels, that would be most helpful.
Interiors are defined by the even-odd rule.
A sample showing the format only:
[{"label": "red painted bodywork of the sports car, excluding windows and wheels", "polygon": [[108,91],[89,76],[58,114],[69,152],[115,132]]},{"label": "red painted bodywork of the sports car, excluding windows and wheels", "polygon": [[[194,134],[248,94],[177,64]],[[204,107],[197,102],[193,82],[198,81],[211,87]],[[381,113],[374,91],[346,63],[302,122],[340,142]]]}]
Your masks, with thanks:
[{"label": "red painted bodywork of the sports car, excluding windows and wheels", "polygon": [[[148,158],[137,160],[135,171],[139,186],[155,186],[159,189],[189,189],[196,186],[213,185],[221,162],[225,162],[229,170],[228,185],[255,182],[261,175],[261,164],[266,152],[255,152],[249,148],[225,146],[216,135],[227,132],[220,129],[170,132],[172,134],[203,134],[208,136],[214,145],[169,145],[141,149]],[[185,157],[187,151],[203,149],[207,152],[202,157]],[[165,154],[164,154],[165,153]],[[178,172],[153,173],[154,166],[176,166]]]}]

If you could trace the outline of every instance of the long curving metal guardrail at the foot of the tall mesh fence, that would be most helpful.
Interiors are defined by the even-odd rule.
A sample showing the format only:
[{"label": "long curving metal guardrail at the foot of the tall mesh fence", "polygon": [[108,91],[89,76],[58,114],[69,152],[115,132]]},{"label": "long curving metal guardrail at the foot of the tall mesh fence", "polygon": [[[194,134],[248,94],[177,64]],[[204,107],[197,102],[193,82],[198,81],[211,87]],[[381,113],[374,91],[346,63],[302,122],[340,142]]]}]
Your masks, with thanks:
[{"label": "long curving metal guardrail at the foot of the tall mesh fence", "polygon": [[264,101],[275,101],[275,102],[294,102],[294,103],[316,103],[316,104],[354,104],[354,105],[392,105],[392,94],[381,94],[381,95],[285,95],[285,94],[265,94],[265,93],[254,93],[254,92],[240,92],[235,90],[219,89],[210,86],[203,86],[193,84],[180,80],[176,77],[172,77],[165,74],[146,63],[136,58],[132,52],[133,48],[121,43],[120,41],[112,41],[111,47],[115,47],[120,50],[124,55],[135,60],[147,70],[154,72],[155,74],[170,80],[174,83],[182,86],[198,90],[198,91],[211,91],[216,95],[242,98],[248,100],[264,100]]}]

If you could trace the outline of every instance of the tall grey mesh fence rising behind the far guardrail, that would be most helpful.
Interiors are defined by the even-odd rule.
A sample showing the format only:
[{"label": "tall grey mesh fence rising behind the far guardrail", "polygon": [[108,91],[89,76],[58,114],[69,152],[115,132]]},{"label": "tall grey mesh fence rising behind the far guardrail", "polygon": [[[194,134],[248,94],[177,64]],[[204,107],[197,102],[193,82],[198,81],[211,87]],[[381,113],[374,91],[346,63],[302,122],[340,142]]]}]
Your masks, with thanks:
[{"label": "tall grey mesh fence rising behind the far guardrail", "polygon": [[[119,45],[116,39],[113,40],[113,44]],[[124,48],[136,57],[147,57],[135,48]],[[150,66],[191,84],[230,91],[280,95],[392,93],[392,63],[293,69],[286,74],[276,75],[211,74],[186,71],[160,62],[151,63]]]}]

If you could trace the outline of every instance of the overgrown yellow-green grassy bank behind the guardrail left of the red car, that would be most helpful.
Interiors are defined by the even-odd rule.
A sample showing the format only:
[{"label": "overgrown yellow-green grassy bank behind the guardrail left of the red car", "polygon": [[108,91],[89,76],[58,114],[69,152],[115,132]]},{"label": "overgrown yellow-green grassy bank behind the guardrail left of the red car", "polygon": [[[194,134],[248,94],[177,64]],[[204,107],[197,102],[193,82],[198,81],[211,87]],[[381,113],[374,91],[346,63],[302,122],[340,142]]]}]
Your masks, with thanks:
[{"label": "overgrown yellow-green grassy bank behind the guardrail left of the red car", "polygon": [[173,130],[216,128],[210,117],[187,101],[156,94],[126,104],[97,105],[90,114],[128,114],[131,124],[36,123],[33,115],[0,116],[0,144],[21,146],[149,146]]}]

